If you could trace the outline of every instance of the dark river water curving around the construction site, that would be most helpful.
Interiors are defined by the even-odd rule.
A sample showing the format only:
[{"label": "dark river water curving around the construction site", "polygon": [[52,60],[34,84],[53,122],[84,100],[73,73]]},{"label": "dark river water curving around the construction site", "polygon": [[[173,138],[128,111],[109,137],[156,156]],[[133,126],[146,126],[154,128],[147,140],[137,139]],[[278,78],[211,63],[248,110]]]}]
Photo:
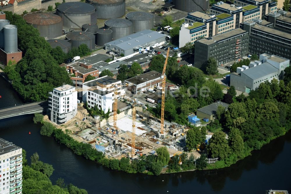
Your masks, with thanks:
[{"label": "dark river water curving around the construction site", "polygon": [[[0,108],[22,103],[2,78],[0,95]],[[66,146],[58,144],[53,137],[41,136],[41,125],[33,124],[32,118],[33,115],[24,115],[1,119],[0,137],[25,149],[28,160],[34,152],[38,152],[41,161],[52,164],[55,170],[50,179],[53,183],[62,177],[66,184],[72,183],[86,189],[88,193],[265,193],[269,189],[291,191],[291,132],[228,168],[148,176],[109,170],[77,156]]]}]

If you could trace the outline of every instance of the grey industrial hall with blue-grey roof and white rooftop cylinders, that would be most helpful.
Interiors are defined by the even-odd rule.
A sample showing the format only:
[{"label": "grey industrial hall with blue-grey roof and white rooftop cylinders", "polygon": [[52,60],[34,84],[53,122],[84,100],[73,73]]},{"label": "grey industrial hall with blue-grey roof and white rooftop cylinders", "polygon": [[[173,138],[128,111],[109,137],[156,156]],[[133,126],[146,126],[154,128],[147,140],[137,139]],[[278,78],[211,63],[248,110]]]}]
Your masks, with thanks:
[{"label": "grey industrial hall with blue-grey roof and white rooftop cylinders", "polygon": [[249,93],[255,90],[262,82],[272,79],[281,80],[284,70],[290,60],[275,55],[261,54],[260,61],[251,62],[249,66],[238,67],[230,74],[230,85],[235,89]]}]

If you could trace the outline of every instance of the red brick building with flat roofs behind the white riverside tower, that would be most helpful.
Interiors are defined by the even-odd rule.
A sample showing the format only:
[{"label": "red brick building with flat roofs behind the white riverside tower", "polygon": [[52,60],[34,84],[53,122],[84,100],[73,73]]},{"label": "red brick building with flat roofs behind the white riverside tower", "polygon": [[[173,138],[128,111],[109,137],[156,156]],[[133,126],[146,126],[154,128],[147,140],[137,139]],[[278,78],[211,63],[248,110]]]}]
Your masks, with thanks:
[{"label": "red brick building with flat roofs behind the white riverside tower", "polygon": [[83,64],[83,63],[73,63],[67,65],[68,73],[71,75],[71,80],[73,84],[77,84],[81,86],[88,75],[92,75],[93,77],[99,76],[99,70],[92,68],[91,64]]}]

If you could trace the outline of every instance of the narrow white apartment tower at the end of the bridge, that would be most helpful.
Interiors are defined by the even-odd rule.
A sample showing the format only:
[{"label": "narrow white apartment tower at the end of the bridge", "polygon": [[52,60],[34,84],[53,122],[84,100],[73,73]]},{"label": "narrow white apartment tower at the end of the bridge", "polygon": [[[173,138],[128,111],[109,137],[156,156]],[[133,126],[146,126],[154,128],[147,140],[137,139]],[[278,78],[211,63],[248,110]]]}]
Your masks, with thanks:
[{"label": "narrow white apartment tower at the end of the bridge", "polygon": [[51,121],[63,124],[77,114],[77,91],[75,87],[66,84],[49,92],[49,110]]}]

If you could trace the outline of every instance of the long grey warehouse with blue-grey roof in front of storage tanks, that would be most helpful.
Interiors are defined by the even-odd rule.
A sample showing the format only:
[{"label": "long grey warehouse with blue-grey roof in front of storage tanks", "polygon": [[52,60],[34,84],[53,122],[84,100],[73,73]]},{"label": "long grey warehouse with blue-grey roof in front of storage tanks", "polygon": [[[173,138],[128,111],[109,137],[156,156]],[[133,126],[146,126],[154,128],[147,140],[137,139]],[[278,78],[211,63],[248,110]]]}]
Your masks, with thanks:
[{"label": "long grey warehouse with blue-grey roof in front of storage tanks", "polygon": [[106,43],[105,50],[129,56],[145,49],[150,50],[150,47],[162,45],[165,41],[165,34],[152,30],[143,30]]}]

